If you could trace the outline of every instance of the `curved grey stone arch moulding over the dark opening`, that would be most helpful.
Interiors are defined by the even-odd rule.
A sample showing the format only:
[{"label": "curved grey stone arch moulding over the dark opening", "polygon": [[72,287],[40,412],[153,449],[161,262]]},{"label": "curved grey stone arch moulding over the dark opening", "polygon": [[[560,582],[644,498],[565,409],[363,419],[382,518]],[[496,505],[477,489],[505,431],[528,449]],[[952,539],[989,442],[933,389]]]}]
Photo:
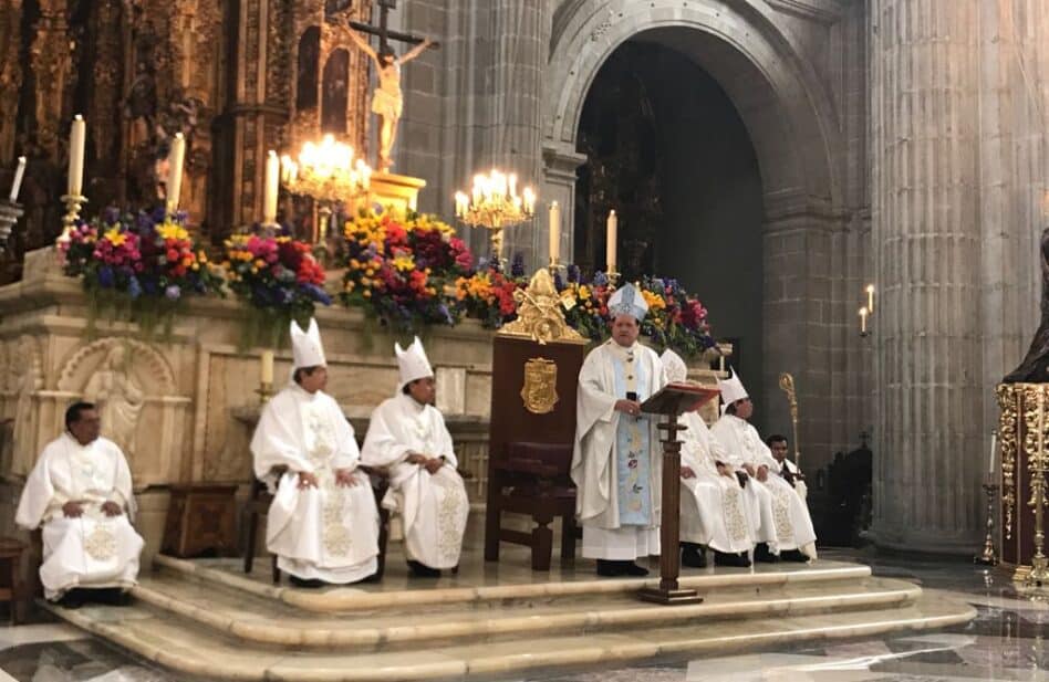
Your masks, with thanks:
[{"label": "curved grey stone arch moulding over the dark opening", "polygon": [[[754,140],[769,212],[841,198],[838,114],[797,41],[764,0],[571,0],[554,14],[543,93],[548,146],[571,153],[590,85],[623,42],[647,34],[724,87]],[[727,6],[727,7],[726,7]]]}]

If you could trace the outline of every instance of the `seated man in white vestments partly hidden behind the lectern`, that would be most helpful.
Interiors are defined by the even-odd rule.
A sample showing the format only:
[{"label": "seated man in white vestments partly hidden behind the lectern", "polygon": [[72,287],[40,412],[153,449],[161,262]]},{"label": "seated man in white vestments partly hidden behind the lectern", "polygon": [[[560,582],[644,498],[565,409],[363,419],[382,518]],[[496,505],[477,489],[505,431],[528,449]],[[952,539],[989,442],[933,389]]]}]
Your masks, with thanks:
[{"label": "seated man in white vestments partly hidden behind the lectern", "polygon": [[[667,348],[659,359],[668,381],[687,381],[688,369],[679,355]],[[682,564],[703,568],[703,547],[710,547],[717,566],[749,566],[750,524],[739,481],[726,464],[728,455],[698,411],[685,412],[679,421],[687,427],[681,434]]]}]

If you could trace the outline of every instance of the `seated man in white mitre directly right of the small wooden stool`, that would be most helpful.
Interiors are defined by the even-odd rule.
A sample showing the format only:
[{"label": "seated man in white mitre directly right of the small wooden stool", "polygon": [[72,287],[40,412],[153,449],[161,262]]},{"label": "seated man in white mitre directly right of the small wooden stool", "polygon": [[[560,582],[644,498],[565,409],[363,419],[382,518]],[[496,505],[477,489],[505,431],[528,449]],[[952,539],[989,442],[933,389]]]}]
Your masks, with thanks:
[{"label": "seated man in white mitre directly right of the small wooden stool", "polygon": [[251,453],[255,474],[276,489],[266,546],[293,585],[356,583],[378,567],[378,508],[353,427],[324,392],[326,361],[316,321],[291,323],[291,384],[267,402]]}]

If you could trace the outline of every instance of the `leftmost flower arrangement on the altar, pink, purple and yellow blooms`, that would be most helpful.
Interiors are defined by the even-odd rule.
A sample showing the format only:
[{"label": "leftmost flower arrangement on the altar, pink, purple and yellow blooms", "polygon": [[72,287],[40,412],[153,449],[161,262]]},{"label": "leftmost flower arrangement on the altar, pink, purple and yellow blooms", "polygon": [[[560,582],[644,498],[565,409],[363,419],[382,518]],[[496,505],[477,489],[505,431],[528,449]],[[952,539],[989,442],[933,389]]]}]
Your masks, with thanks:
[{"label": "leftmost flower arrangement on the altar, pink, purple and yellow blooms", "polygon": [[185,228],[184,213],[107,209],[74,223],[59,239],[63,272],[80,277],[101,307],[126,311],[145,332],[172,315],[186,296],[221,292],[222,280]]}]

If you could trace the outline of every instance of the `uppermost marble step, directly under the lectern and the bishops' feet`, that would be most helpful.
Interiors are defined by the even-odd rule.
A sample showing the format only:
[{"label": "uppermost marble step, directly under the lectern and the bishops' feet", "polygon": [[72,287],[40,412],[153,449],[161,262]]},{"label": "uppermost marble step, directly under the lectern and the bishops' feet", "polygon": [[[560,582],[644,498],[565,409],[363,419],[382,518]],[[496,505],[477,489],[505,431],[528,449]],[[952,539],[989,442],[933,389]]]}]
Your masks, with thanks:
[{"label": "uppermost marble step, directly under the lectern and the bishops' feet", "polygon": [[[268,562],[256,563],[255,571],[246,576],[239,570],[239,559],[185,560],[158,555],[154,566],[168,575],[177,575],[201,585],[220,585],[242,592],[274,599],[283,604],[322,613],[368,611],[388,608],[439,607],[466,604],[534,600],[580,596],[614,596],[636,592],[645,586],[658,585],[658,570],[648,578],[598,578],[589,567],[537,573],[527,568],[527,562],[485,565],[477,557],[460,570],[459,576],[443,577],[436,581],[406,577],[396,557],[387,562],[386,576],[377,585],[354,585],[319,590],[274,586],[269,580]],[[581,564],[583,564],[581,562]],[[812,562],[804,564],[761,564],[752,568],[684,569],[681,584],[703,594],[715,589],[742,587],[751,590],[811,583],[856,583],[870,577],[868,566],[842,562]],[[287,583],[284,584],[287,585]]]}]

